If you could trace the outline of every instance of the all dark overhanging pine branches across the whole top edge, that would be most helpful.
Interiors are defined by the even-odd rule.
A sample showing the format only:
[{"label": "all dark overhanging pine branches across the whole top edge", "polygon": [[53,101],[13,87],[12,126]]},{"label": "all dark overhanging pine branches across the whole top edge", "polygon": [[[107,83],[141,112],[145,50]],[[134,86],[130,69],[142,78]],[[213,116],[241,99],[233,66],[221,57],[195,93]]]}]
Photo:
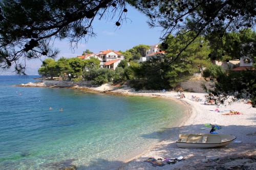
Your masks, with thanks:
[{"label": "all dark overhanging pine branches across the whole top edge", "polygon": [[[227,32],[255,26],[253,0],[4,0],[0,3],[0,66],[14,64],[19,74],[25,74],[22,59],[57,55],[58,51],[51,47],[54,39],[67,38],[74,47],[81,39],[93,36],[93,21],[109,18],[105,16],[115,19],[116,26],[120,26],[129,12],[126,3],[148,16],[150,26],[163,28],[163,41],[169,35],[193,32],[187,46],[200,36],[215,34],[222,40]],[[134,59],[140,56],[143,55],[133,54]]]}]

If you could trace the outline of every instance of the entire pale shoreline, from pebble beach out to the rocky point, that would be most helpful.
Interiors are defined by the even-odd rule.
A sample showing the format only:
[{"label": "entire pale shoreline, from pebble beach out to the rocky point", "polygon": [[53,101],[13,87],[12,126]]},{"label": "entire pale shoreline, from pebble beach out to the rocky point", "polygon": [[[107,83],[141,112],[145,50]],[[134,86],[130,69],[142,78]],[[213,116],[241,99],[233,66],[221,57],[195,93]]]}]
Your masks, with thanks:
[{"label": "entire pale shoreline, from pebble beach out to the rocky point", "polygon": [[[163,129],[168,134],[165,139],[159,139],[159,143],[154,147],[135,156],[133,159],[126,160],[118,169],[210,169],[209,167],[215,166],[220,166],[220,169],[228,169],[236,167],[237,164],[243,167],[252,167],[251,169],[255,167],[255,161],[253,160],[255,160],[256,155],[256,108],[252,108],[249,104],[234,102],[231,105],[221,105],[217,108],[216,105],[204,105],[205,93],[184,92],[186,98],[179,99],[175,91],[135,91],[127,86],[117,88],[109,84],[100,87],[75,86],[71,88],[112,94],[167,98],[182,102],[188,107],[189,112],[182,123],[172,128]],[[196,95],[203,101],[196,102],[191,100],[192,95]],[[220,112],[215,111],[216,109]],[[229,112],[229,110],[237,110],[242,114],[222,115]],[[175,141],[180,133],[209,133],[210,129],[204,126],[207,123],[222,126],[222,129],[218,130],[220,134],[235,135],[237,139],[226,147],[217,149],[177,148]],[[201,130],[200,128],[205,129]],[[152,134],[148,134],[148,136],[152,136]],[[147,135],[144,137],[147,137]],[[184,159],[175,164],[166,164],[161,167],[154,167],[152,164],[145,162],[148,158],[163,159],[177,158],[179,156],[183,156]],[[241,159],[244,161],[241,161]]]}]

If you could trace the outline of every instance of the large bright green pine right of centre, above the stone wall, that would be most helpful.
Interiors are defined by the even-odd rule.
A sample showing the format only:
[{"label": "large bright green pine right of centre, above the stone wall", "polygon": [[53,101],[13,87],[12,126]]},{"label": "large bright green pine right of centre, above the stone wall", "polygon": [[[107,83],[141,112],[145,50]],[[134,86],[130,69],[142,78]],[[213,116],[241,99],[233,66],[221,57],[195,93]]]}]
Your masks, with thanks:
[{"label": "large bright green pine right of centre, above the stone wall", "polygon": [[[165,78],[168,79],[171,87],[175,87],[179,82],[187,80],[194,73],[200,72],[200,68],[211,64],[207,55],[209,53],[208,41],[198,37],[187,45],[189,38],[194,37],[195,33],[188,32],[186,34],[185,36],[169,36],[161,45],[161,47],[165,44],[168,45],[165,49],[167,61],[164,62],[167,62],[169,66],[167,67],[168,70],[165,70]],[[182,51],[178,57],[177,54],[179,54],[180,50],[185,46],[186,49]]]}]

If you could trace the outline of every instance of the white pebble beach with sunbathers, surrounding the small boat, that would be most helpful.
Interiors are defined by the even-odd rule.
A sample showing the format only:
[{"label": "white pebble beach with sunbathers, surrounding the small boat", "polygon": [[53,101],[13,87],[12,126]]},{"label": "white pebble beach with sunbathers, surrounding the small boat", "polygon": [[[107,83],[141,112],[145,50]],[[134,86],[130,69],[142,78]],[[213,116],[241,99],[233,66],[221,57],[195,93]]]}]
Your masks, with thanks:
[{"label": "white pebble beach with sunbathers, surrounding the small boat", "polygon": [[[138,93],[140,94],[140,93]],[[152,93],[148,93],[151,94]],[[147,94],[147,95],[148,95]],[[176,98],[176,92],[154,93],[165,98]],[[203,105],[203,102],[194,102],[189,100],[191,95],[196,95],[204,98],[204,93],[190,93],[184,92],[186,98],[180,99],[186,102],[190,107],[190,115],[187,120],[178,127],[166,129],[169,131],[169,137],[160,141],[154,148],[125,163],[119,169],[200,169],[212,166],[212,161],[205,161],[204,159],[228,159],[236,156],[251,156],[256,155],[256,109],[248,104],[242,102],[235,102],[231,105],[222,106],[218,108],[220,111],[236,109],[242,112],[241,115],[222,115],[222,112],[211,111],[215,110],[216,106]],[[141,95],[144,95],[143,93]],[[224,111],[225,113],[228,111]],[[211,123],[222,126],[219,130],[221,134],[235,135],[235,141],[241,143],[231,143],[223,148],[217,149],[180,149],[177,148],[175,141],[178,139],[180,133],[209,133],[209,129],[201,130],[204,124]],[[177,158],[183,156],[185,160],[173,165],[154,167],[150,163],[144,162],[150,157],[158,158]],[[228,156],[228,158],[227,158]],[[241,159],[241,158],[239,158]],[[201,163],[201,164],[200,164]],[[255,168],[255,166],[254,166]],[[204,168],[202,168],[204,169]]]}]

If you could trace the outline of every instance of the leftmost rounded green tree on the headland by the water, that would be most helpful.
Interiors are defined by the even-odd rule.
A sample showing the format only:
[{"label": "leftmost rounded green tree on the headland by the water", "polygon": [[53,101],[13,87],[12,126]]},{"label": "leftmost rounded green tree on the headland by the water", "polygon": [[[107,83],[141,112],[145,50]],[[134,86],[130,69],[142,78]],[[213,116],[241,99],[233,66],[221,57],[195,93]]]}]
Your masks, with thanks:
[{"label": "leftmost rounded green tree on the headland by the water", "polygon": [[38,74],[41,76],[50,76],[53,79],[57,75],[55,60],[48,58],[42,62],[41,67],[38,69]]}]

